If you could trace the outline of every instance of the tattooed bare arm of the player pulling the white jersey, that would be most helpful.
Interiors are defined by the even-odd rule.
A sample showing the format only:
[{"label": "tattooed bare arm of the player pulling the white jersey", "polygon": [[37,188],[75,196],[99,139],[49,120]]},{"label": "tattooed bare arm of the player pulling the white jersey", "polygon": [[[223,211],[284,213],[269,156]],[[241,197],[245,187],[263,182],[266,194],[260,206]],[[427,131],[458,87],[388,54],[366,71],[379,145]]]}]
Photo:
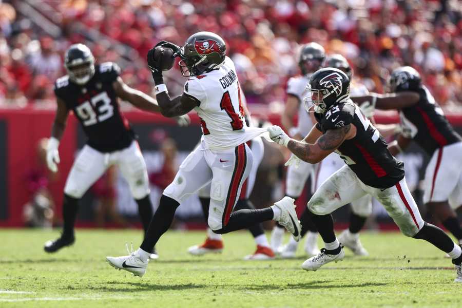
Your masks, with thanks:
[{"label": "tattooed bare arm of the player pulling the white jersey", "polygon": [[291,139],[287,143],[287,148],[301,160],[316,164],[335,151],[345,139],[351,139],[355,135],[356,127],[348,124],[326,131],[315,144]]}]

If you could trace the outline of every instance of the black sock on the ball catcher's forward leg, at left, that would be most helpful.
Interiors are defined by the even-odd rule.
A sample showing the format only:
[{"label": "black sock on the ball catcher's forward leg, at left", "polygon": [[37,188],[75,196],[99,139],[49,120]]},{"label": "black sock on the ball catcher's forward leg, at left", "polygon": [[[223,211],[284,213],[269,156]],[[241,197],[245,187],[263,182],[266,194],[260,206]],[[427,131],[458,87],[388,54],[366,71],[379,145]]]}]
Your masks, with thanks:
[{"label": "black sock on the ball catcher's forward leg, at left", "polygon": [[159,238],[168,230],[174,219],[175,211],[180,205],[174,199],[162,195],[159,207],[152,217],[149,227],[140,248],[145,252],[150,252],[156,245]]}]

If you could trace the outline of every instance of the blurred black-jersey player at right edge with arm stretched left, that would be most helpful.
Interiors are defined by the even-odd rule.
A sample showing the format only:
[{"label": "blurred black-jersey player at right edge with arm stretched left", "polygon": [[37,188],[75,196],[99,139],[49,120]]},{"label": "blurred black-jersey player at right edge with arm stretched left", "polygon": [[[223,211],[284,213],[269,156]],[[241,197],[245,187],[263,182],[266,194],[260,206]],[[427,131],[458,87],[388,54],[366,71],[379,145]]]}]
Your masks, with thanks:
[{"label": "blurred black-jersey player at right edge with arm stretched left", "polygon": [[425,171],[424,203],[462,244],[462,229],[454,212],[462,205],[462,138],[412,67],[395,69],[388,80],[388,91],[354,101],[375,100],[378,109],[399,111],[401,133],[390,143],[390,152],[396,155],[414,140],[431,157]]}]

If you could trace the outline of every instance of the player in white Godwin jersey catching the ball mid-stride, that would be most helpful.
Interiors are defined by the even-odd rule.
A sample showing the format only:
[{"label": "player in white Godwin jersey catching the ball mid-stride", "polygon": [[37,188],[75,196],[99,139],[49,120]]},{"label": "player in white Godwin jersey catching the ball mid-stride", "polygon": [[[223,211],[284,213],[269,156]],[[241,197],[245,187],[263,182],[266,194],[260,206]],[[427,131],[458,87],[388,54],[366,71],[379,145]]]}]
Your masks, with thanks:
[{"label": "player in white Godwin jersey catching the ball mid-stride", "polygon": [[[163,56],[153,56],[157,46],[179,54],[180,68],[188,77],[182,95],[170,99],[162,76]],[[300,237],[301,225],[294,199],[284,198],[264,209],[233,211],[242,184],[252,168],[253,157],[246,142],[265,131],[247,127],[241,106],[241,91],[234,63],[226,56],[223,39],[211,32],[191,35],[183,47],[160,42],[148,52],[148,65],[156,84],[156,98],[166,117],[175,117],[194,109],[201,118],[201,144],[183,161],[174,181],[165,188],[145,239],[128,256],[107,257],[110,265],[137,276],[146,273],[149,247],[167,231],[177,207],[187,197],[211,183],[208,226],[223,234],[248,228],[256,223],[275,220],[294,237]],[[156,51],[156,52],[155,52]]]}]

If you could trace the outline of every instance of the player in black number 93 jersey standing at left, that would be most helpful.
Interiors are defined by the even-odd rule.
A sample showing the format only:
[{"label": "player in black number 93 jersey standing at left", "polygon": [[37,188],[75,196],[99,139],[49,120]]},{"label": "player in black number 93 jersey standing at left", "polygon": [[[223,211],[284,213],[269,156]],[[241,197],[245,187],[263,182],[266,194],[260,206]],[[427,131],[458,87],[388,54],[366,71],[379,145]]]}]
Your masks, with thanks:
[{"label": "player in black number 93 jersey standing at left", "polygon": [[[67,75],[56,80],[57,109],[47,148],[47,163],[57,171],[60,162],[58,146],[72,110],[85,134],[87,144],[75,159],[64,188],[63,233],[45,243],[53,253],[71,245],[79,199],[111,165],[118,165],[127,180],[146,231],[152,218],[146,164],[128,121],[119,110],[118,98],[150,112],[160,112],[155,99],[127,86],[117,64],[94,64],[90,49],[83,44],[70,46],[65,54]],[[187,123],[187,118],[179,119]],[[155,258],[156,255],[151,255]]]}]

